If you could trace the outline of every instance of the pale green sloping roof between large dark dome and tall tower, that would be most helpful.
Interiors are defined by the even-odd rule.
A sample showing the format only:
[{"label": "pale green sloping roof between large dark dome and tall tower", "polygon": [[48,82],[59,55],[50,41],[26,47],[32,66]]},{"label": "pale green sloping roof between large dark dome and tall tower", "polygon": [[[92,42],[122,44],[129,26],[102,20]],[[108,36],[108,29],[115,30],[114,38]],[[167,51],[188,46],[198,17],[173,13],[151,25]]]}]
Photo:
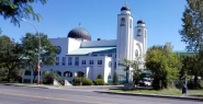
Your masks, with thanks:
[{"label": "pale green sloping roof between large dark dome and tall tower", "polygon": [[87,47],[78,48],[66,55],[89,55],[89,54],[106,54],[106,53],[116,53],[116,47]]}]

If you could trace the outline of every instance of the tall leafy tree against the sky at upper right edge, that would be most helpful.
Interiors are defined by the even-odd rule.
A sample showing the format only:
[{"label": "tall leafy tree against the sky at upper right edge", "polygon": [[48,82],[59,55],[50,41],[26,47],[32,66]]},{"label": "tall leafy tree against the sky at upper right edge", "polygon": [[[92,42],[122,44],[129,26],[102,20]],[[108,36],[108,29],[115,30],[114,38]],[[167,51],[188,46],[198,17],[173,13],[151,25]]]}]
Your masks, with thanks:
[{"label": "tall leafy tree against the sky at upper right edge", "polygon": [[187,0],[182,30],[179,31],[181,41],[184,42],[188,50],[202,50],[203,47],[203,1]]}]

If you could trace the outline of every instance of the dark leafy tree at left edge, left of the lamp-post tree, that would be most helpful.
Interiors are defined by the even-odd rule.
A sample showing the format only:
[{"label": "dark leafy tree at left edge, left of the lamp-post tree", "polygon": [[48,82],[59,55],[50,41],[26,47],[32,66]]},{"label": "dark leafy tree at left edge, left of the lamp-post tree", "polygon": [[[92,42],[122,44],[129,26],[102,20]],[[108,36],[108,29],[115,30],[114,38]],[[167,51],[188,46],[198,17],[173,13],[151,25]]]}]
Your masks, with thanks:
[{"label": "dark leafy tree at left edge, left of the lamp-post tree", "polygon": [[24,68],[23,54],[24,49],[21,44],[5,35],[0,36],[1,68],[8,69],[8,81],[14,69]]}]

